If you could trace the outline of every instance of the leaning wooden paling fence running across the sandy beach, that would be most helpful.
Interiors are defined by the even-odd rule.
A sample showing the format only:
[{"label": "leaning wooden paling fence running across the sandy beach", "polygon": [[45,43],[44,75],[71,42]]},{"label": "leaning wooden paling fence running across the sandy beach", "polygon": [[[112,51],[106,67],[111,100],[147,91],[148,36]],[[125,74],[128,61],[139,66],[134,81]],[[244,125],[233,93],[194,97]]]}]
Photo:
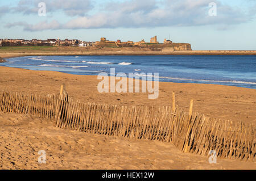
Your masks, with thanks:
[{"label": "leaning wooden paling fence running across the sandy beach", "polygon": [[[61,91],[62,92],[62,91]],[[219,158],[255,159],[253,124],[211,119],[172,106],[127,107],[75,102],[66,94],[24,95],[0,91],[0,111],[52,119],[54,126],[86,133],[172,142],[185,153]]]}]

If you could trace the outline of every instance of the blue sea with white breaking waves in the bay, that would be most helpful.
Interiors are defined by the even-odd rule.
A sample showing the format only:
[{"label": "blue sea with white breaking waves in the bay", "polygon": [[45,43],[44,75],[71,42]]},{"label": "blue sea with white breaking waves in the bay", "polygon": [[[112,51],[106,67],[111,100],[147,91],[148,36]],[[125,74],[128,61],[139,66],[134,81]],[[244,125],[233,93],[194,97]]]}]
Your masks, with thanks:
[{"label": "blue sea with white breaking waves in the bay", "polygon": [[159,81],[256,89],[256,56],[28,56],[1,66],[78,75],[159,73]]}]

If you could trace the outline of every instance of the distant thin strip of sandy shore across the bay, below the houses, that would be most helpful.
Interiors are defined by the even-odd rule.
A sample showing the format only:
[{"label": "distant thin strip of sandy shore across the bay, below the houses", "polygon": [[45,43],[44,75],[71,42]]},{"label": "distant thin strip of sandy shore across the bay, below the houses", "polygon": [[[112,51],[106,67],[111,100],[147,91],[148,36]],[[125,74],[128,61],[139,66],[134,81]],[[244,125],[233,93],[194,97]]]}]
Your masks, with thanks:
[{"label": "distant thin strip of sandy shore across the bay, below the houses", "polygon": [[142,47],[3,47],[0,57],[18,56],[102,56],[102,55],[256,55],[255,50],[176,50],[163,51]]}]

